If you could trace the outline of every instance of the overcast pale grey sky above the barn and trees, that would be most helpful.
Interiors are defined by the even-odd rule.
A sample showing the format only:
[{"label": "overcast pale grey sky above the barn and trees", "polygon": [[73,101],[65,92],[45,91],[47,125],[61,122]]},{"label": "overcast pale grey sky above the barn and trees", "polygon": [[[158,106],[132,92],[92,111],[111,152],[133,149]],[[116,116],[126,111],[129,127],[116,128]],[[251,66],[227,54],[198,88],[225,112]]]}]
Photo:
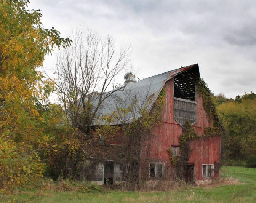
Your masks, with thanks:
[{"label": "overcast pale grey sky above the barn and trees", "polygon": [[[214,94],[256,92],[255,0],[30,0],[62,37],[81,26],[131,45],[142,79],[190,64]],[[44,69],[56,64],[54,51]],[[120,76],[123,80],[123,75]]]}]

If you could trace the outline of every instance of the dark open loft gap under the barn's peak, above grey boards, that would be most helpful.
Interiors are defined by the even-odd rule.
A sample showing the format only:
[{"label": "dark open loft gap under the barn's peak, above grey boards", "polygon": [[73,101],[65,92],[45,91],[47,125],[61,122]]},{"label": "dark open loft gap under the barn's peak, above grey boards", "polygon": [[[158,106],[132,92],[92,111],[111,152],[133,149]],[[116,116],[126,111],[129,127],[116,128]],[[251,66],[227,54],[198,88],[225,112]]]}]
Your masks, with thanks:
[{"label": "dark open loft gap under the barn's peak, above grey boards", "polygon": [[195,101],[195,81],[197,77],[195,68],[176,75],[174,77],[174,97]]}]

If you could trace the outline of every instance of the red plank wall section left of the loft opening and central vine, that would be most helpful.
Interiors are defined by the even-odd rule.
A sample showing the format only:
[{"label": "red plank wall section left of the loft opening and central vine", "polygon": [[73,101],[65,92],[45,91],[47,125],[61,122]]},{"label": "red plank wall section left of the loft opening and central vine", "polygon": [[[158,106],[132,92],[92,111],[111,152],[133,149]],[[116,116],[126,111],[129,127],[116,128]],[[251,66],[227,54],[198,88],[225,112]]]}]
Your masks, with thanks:
[{"label": "red plank wall section left of the loft opening and central vine", "polygon": [[142,177],[149,178],[149,163],[164,163],[164,176],[167,179],[173,177],[173,166],[170,163],[170,154],[168,149],[171,145],[179,145],[179,136],[182,128],[174,120],[174,79],[165,83],[165,105],[163,107],[163,123],[153,129],[153,136],[144,143],[142,148]]}]

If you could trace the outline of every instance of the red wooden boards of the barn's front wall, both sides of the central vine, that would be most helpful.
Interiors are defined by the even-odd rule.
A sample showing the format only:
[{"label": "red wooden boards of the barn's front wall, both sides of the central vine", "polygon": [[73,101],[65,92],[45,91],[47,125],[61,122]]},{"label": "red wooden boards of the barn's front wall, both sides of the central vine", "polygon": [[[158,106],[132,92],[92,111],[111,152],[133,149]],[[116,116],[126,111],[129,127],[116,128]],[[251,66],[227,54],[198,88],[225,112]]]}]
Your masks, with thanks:
[{"label": "red wooden boards of the barn's front wall, both sides of the central vine", "polygon": [[[141,175],[145,179],[149,178],[149,163],[163,162],[165,163],[164,175],[166,178],[173,177],[174,167],[170,163],[170,154],[168,149],[171,145],[179,146],[179,136],[182,133],[181,126],[174,120],[174,79],[165,83],[165,105],[163,107],[162,125],[153,129],[154,136],[145,141],[142,147]],[[195,131],[202,135],[205,127],[209,127],[210,123],[203,107],[203,98],[196,94],[197,101],[197,122],[193,125]],[[191,141],[192,153],[189,162],[195,165],[195,178],[202,180],[202,164],[219,163],[220,137],[200,138]],[[214,173],[216,178],[219,174]]]}]

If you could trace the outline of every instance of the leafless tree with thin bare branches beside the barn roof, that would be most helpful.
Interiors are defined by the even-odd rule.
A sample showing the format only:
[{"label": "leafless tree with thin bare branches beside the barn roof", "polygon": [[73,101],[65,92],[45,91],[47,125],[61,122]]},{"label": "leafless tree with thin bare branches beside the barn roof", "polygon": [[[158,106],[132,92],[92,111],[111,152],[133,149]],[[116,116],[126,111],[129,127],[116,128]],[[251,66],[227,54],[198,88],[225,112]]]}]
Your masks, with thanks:
[{"label": "leafless tree with thin bare branches beside the barn roof", "polygon": [[113,84],[130,62],[130,46],[118,51],[112,37],[101,38],[90,30],[86,35],[84,30],[77,30],[73,38],[72,46],[58,55],[56,85],[72,125],[90,128],[102,102],[123,90]]}]

